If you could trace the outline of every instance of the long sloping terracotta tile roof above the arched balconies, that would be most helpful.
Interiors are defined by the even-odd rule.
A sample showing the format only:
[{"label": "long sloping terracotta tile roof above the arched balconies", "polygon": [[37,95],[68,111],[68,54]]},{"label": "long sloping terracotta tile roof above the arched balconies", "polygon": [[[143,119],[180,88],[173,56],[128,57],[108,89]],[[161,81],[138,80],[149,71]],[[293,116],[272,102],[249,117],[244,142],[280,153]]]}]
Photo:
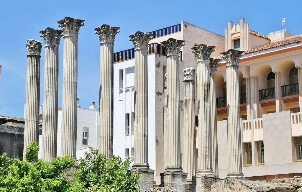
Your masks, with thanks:
[{"label": "long sloping terracotta tile roof above the arched balconies", "polygon": [[302,35],[300,36],[296,36],[296,37],[292,37],[292,38],[288,38],[288,39],[284,39],[284,40],[280,40],[280,41],[275,41],[273,43],[268,43],[259,47],[255,47],[253,49],[250,50],[246,50],[244,52],[244,54],[247,53],[253,53],[253,52],[257,52],[257,51],[261,51],[261,50],[268,50],[271,48],[275,48],[275,47],[279,47],[279,46],[283,46],[283,45],[288,45],[288,44],[292,44],[292,43],[300,43],[302,41]]}]

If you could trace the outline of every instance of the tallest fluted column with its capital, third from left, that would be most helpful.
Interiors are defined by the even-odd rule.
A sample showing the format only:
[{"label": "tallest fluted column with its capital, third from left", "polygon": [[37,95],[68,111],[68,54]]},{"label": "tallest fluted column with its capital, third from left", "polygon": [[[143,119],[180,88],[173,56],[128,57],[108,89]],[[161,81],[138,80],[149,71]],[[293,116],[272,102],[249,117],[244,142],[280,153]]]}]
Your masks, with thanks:
[{"label": "tallest fluted column with its capital, third from left", "polygon": [[61,156],[72,158],[76,158],[78,34],[83,22],[70,17],[58,21],[64,38]]}]

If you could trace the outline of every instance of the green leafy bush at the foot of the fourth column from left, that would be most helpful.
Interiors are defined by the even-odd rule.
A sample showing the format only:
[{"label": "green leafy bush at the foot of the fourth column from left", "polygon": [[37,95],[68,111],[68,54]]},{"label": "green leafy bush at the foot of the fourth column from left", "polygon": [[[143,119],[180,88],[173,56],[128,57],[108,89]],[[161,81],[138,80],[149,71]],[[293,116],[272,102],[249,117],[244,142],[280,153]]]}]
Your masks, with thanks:
[{"label": "green leafy bush at the foot of the fourth column from left", "polygon": [[74,174],[76,181],[72,192],[139,192],[138,179],[142,176],[128,171],[129,158],[122,161],[120,157],[107,159],[92,147],[80,158],[79,170]]}]

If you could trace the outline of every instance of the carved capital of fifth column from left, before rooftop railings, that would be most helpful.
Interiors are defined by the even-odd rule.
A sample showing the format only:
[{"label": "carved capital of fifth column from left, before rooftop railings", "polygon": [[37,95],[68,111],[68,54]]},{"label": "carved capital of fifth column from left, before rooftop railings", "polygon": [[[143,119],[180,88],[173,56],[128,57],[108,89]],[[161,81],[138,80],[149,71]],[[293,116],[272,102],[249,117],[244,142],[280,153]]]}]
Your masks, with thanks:
[{"label": "carved capital of fifth column from left, before rooftop railings", "polygon": [[148,49],[149,41],[153,39],[153,34],[137,31],[135,34],[129,35],[129,41],[134,44],[134,49]]}]

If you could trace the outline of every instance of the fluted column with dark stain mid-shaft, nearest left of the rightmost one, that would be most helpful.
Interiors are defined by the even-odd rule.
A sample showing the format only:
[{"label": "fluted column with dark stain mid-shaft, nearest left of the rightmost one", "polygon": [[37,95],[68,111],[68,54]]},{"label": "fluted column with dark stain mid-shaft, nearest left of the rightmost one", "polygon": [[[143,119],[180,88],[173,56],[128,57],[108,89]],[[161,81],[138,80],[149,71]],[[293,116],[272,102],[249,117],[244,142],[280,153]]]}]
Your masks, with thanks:
[{"label": "fluted column with dark stain mid-shaft, nearest left of the rightmost one", "polygon": [[210,55],[214,46],[200,44],[192,48],[197,59],[198,105],[198,171],[197,174],[214,176],[212,169]]}]

